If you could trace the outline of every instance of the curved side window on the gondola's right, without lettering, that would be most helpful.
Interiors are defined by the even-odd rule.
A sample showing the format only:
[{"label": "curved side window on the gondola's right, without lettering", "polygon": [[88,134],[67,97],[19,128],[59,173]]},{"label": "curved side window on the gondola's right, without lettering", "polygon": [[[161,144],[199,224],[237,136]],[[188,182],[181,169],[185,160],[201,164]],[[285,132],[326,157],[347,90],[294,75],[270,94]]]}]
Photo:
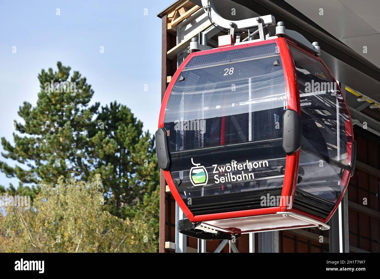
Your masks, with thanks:
[{"label": "curved side window on the gondola's right, without lettering", "polygon": [[297,190],[335,203],[344,188],[347,107],[336,82],[317,59],[290,46],[301,101],[302,145]]}]

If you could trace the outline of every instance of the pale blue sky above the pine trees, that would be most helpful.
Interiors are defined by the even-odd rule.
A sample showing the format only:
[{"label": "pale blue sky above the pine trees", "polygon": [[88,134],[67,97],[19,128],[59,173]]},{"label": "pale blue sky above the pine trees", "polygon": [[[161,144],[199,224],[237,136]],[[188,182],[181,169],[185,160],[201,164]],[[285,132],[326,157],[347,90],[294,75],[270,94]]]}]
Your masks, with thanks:
[{"label": "pale blue sky above the pine trees", "polygon": [[[131,108],[144,130],[156,131],[161,94],[157,14],[174,0],[0,1],[0,137],[13,143],[19,106],[24,101],[35,106],[37,75],[41,69],[56,70],[57,61],[87,78],[95,91],[92,102],[116,100]],[[0,184],[9,182],[18,185],[0,172]]]}]

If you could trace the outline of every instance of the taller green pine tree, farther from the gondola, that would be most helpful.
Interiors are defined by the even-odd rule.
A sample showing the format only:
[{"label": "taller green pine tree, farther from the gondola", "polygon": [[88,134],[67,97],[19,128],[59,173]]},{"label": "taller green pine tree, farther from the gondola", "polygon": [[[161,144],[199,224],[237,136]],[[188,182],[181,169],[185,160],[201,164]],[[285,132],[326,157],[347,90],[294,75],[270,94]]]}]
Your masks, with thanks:
[{"label": "taller green pine tree, farther from the gondola", "polygon": [[78,71],[70,77],[71,68],[60,62],[57,67],[58,71],[49,68],[38,75],[41,90],[36,107],[24,102],[19,108],[25,124],[14,122],[18,132],[13,133],[14,146],[2,138],[3,157],[24,166],[0,162],[1,171],[22,183],[55,183],[59,176],[87,179],[90,173],[84,150],[99,104],[89,106],[93,90],[85,77]]}]

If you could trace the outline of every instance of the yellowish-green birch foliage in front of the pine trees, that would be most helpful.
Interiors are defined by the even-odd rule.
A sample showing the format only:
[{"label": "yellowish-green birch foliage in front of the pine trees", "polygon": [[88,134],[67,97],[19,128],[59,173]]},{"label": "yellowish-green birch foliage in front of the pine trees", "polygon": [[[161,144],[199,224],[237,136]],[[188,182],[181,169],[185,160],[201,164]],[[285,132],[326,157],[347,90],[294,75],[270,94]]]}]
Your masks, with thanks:
[{"label": "yellowish-green birch foliage in front of the pine trees", "polygon": [[0,252],[155,252],[154,228],[106,210],[100,175],[41,184],[33,207],[4,207]]}]

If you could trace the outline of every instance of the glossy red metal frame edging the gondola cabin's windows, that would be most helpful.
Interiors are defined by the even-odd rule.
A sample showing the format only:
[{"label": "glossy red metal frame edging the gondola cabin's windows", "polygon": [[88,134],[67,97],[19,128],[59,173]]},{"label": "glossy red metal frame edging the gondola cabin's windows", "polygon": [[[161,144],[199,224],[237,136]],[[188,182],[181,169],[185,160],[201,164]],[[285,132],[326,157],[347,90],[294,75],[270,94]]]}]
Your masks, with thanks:
[{"label": "glossy red metal frame edging the gondola cabin's windows", "polygon": [[[166,89],[165,96],[163,97],[162,104],[161,104],[161,110],[160,110],[160,116],[158,120],[158,129],[161,127],[164,127],[164,119],[165,119],[165,110],[166,110],[166,105],[169,100],[170,92],[173,89],[174,84],[177,81],[177,78],[179,77],[179,74],[182,72],[188,61],[190,61],[191,58],[197,55],[205,55],[209,53],[216,53],[216,52],[223,52],[227,50],[233,50],[233,49],[241,49],[245,47],[250,47],[250,46],[255,46],[255,45],[263,45],[263,44],[271,44],[275,42],[277,44],[277,47],[279,49],[279,55],[282,60],[282,66],[283,66],[283,72],[284,72],[284,77],[285,77],[285,86],[286,86],[286,94],[287,94],[287,108],[291,110],[295,110],[298,112],[298,114],[301,115],[301,107],[300,107],[300,100],[298,97],[298,79],[297,79],[297,74],[296,74],[296,69],[294,66],[293,62],[293,56],[291,55],[290,49],[289,49],[289,44],[293,45],[294,47],[302,50],[304,53],[313,56],[317,60],[323,61],[313,55],[310,52],[307,52],[304,49],[301,49],[298,47],[296,44],[293,42],[289,41],[288,39],[284,38],[277,38],[277,39],[271,39],[271,40],[266,40],[266,41],[260,41],[260,42],[252,42],[252,43],[247,43],[247,44],[241,44],[241,45],[233,45],[230,47],[223,47],[223,48],[218,48],[218,49],[211,49],[211,50],[205,50],[202,52],[193,52],[190,53],[187,58],[185,59],[184,62],[179,66],[177,69],[176,73],[174,74],[173,78],[171,79],[168,88]],[[326,67],[326,65],[323,63],[323,65]],[[326,67],[326,69],[329,71],[329,69]],[[329,71],[330,72],[330,71]],[[331,74],[331,72],[330,72]],[[332,76],[332,74],[331,74]],[[334,81],[336,82],[335,78]],[[339,86],[338,86],[339,88]],[[340,90],[340,88],[339,88]],[[341,94],[342,91],[340,90]],[[343,96],[343,94],[342,94]],[[344,99],[344,97],[343,97]],[[345,102],[345,99],[344,99]],[[346,108],[347,108],[347,103],[345,102]],[[347,109],[348,115],[348,109]],[[348,134],[348,127],[347,125],[350,125],[350,131],[351,135]],[[351,118],[349,124],[346,121],[346,130],[347,130],[347,137],[351,137],[351,142],[349,143],[347,140],[347,160],[351,160],[351,155],[352,155],[352,142],[353,142],[353,132],[352,132],[352,124],[351,124]],[[294,200],[294,193],[296,191],[296,183],[298,179],[298,165],[299,165],[299,154],[300,150],[296,151],[294,154],[287,155],[286,157],[286,163],[285,163],[285,174],[284,174],[284,182],[283,182],[283,187],[282,187],[282,199],[281,201],[290,201],[290,205],[287,207],[287,205],[282,205],[280,204],[279,207],[270,207],[270,208],[258,208],[258,209],[251,209],[251,210],[241,210],[241,211],[235,211],[235,212],[224,212],[224,213],[213,213],[213,214],[206,214],[206,215],[197,215],[194,216],[190,210],[188,209],[187,205],[185,202],[182,200],[180,197],[180,194],[177,190],[177,188],[174,185],[173,179],[171,177],[170,171],[163,171],[166,182],[168,183],[169,189],[171,193],[173,194],[174,199],[177,201],[179,207],[182,209],[182,211],[185,213],[187,218],[192,221],[192,222],[200,222],[200,221],[211,221],[211,220],[220,220],[220,219],[230,219],[230,218],[241,218],[241,217],[248,217],[248,216],[258,216],[258,215],[267,215],[267,214],[274,214],[277,212],[294,212],[294,213],[299,213],[301,215],[310,217],[312,219],[315,219],[317,221],[326,223],[332,216],[332,214],[335,212],[336,208],[338,207],[340,201],[342,200],[344,193],[347,189],[348,185],[348,180],[350,177],[350,171],[345,170],[344,176],[342,179],[342,182],[345,182],[345,187],[342,192],[342,195],[340,196],[339,200],[337,201],[336,206],[330,213],[330,215],[326,218],[323,219],[319,216],[312,215],[307,212],[303,212],[301,210],[293,209],[292,204]],[[349,161],[350,162],[350,161]],[[291,171],[290,171],[291,170]],[[290,199],[287,199],[286,197],[290,197]]]}]

